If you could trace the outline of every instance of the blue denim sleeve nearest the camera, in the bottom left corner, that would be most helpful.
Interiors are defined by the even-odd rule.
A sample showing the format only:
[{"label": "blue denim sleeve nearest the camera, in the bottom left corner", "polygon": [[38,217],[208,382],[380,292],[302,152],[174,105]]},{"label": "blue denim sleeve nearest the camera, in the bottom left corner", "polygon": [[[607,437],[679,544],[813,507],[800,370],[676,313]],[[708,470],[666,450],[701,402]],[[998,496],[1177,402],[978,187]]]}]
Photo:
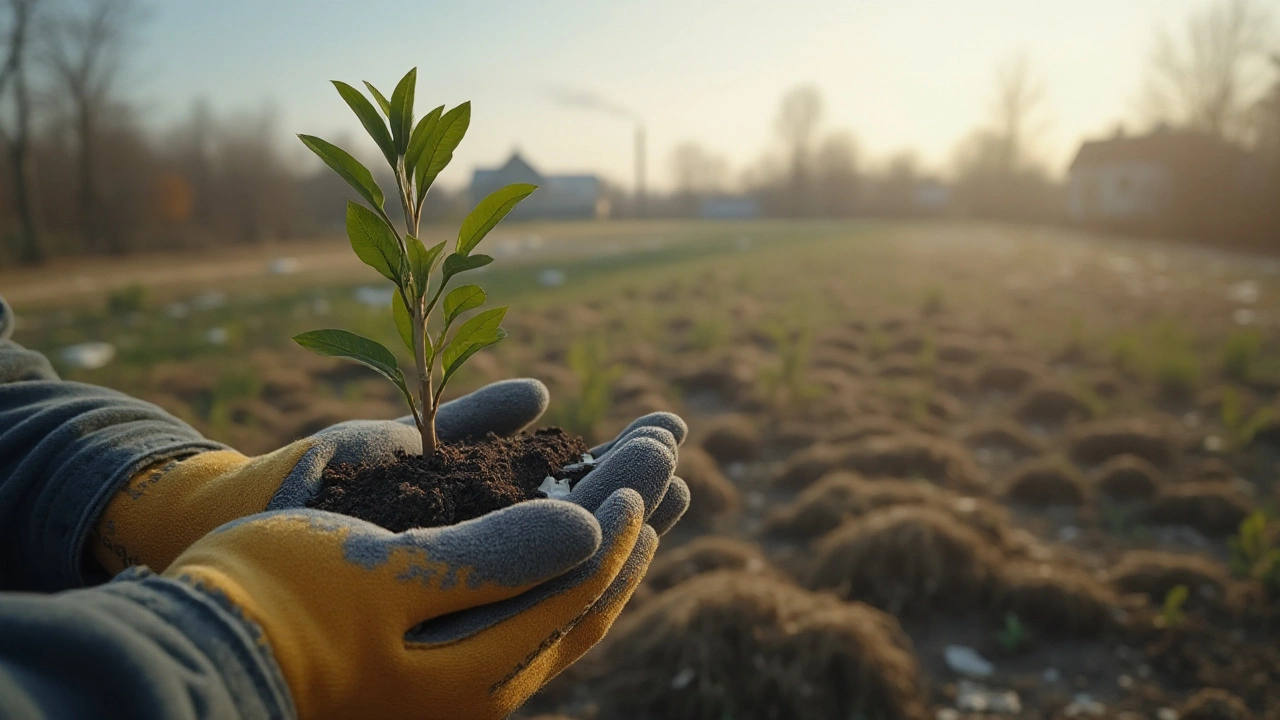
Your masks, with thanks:
[{"label": "blue denim sleeve nearest the camera, in the bottom left corner", "polygon": [[296,717],[257,626],[148,570],[58,594],[0,593],[0,717]]}]

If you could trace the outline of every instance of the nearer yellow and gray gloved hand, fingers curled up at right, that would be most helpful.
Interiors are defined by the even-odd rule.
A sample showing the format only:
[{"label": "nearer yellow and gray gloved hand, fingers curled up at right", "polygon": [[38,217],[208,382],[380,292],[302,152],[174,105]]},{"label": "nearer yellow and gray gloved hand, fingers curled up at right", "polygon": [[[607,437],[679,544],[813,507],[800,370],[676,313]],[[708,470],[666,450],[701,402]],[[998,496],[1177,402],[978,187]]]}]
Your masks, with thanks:
[{"label": "nearer yellow and gray gloved hand, fingers curled up at right", "polygon": [[658,534],[689,503],[672,480],[676,445],[640,420],[596,448],[603,459],[567,501],[445,528],[253,515],[192,544],[165,575],[261,628],[300,717],[504,717],[631,597]]}]

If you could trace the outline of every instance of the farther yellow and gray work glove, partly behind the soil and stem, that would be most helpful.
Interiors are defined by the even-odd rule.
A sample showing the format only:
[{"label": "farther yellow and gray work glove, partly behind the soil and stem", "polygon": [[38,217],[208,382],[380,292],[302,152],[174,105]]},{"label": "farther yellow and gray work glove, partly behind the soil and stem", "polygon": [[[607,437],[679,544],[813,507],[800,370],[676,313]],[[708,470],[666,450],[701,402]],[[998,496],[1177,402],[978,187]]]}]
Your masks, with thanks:
[{"label": "farther yellow and gray work glove, partly behind the soil and stem", "polygon": [[[442,405],[436,429],[444,439],[512,434],[538,420],[547,404],[538,380],[498,382]],[[99,516],[88,547],[111,574],[129,565],[161,571],[223,523],[305,506],[330,462],[389,462],[397,452],[421,451],[411,419],[352,420],[257,457],[216,450],[166,460],[122,486]]]}]

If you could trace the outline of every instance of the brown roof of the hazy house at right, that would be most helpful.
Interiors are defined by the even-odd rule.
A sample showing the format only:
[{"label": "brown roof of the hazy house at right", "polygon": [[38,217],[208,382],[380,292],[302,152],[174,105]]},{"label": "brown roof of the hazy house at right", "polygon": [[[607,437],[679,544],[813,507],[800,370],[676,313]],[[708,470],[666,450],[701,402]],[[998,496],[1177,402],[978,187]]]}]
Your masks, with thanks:
[{"label": "brown roof of the hazy house at right", "polygon": [[1161,127],[1142,136],[1116,135],[1084,142],[1071,161],[1071,169],[1129,163],[1187,167],[1242,155],[1240,149],[1215,135]]}]

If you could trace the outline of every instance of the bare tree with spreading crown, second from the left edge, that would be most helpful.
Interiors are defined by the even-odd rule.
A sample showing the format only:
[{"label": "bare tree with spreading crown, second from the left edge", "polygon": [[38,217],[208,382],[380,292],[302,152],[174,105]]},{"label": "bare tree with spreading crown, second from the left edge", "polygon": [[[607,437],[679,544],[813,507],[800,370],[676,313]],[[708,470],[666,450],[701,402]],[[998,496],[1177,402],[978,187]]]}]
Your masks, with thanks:
[{"label": "bare tree with spreading crown, second from the left edge", "polygon": [[[120,73],[128,28],[137,18],[134,0],[86,0],[83,14],[64,14],[49,24],[46,55],[70,105],[79,169],[79,214],[84,243],[104,250],[97,187],[97,147],[102,114]],[[111,241],[106,250],[123,247]]]}]

